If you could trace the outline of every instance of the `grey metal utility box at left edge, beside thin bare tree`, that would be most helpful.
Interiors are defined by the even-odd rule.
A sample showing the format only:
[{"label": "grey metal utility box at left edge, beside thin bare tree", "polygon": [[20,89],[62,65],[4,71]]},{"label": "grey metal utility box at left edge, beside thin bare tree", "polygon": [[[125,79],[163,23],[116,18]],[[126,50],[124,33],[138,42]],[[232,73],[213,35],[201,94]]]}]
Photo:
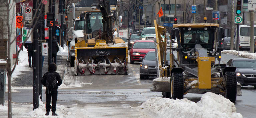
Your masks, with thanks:
[{"label": "grey metal utility box at left edge, beside thin bare tree", "polygon": [[4,106],[5,96],[5,69],[0,69],[0,104]]}]

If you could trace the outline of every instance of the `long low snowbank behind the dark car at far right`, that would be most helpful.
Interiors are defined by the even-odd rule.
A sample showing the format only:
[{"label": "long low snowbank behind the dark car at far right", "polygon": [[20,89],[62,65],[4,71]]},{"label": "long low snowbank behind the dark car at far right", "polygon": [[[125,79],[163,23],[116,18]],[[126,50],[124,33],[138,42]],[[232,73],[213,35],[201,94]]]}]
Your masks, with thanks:
[{"label": "long low snowbank behind the dark car at far right", "polygon": [[235,51],[235,50],[223,50],[221,51],[223,54],[234,54],[237,56],[242,56],[245,58],[251,58],[251,59],[256,59],[256,53],[249,53],[246,51]]}]

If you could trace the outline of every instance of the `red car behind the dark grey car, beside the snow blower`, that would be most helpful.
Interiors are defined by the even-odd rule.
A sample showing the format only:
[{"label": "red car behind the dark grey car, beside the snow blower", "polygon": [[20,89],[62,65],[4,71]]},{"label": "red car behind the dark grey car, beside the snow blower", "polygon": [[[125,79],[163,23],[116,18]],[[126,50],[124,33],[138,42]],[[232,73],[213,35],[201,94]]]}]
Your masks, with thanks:
[{"label": "red car behind the dark grey car, beside the snow blower", "polygon": [[135,41],[130,50],[130,64],[134,64],[134,61],[140,61],[140,57],[144,58],[149,51],[155,51],[153,40]]}]

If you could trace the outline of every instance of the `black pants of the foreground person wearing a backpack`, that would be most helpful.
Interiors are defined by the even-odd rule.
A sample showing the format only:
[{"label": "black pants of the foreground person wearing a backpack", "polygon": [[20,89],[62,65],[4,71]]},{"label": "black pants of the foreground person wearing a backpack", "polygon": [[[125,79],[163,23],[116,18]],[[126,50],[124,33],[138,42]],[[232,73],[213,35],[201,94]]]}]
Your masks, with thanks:
[{"label": "black pants of the foreground person wearing a backpack", "polygon": [[56,111],[56,103],[57,103],[57,96],[58,96],[58,90],[57,89],[46,89],[46,112],[50,112],[51,109],[51,99],[52,99],[52,112]]}]

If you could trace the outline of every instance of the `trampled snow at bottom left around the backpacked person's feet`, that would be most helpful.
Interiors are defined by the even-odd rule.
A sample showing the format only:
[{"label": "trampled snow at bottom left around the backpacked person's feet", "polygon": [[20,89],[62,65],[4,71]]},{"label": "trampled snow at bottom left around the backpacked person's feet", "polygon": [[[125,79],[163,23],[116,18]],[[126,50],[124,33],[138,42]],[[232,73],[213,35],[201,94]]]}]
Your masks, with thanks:
[{"label": "trampled snow at bottom left around the backpacked person's feet", "polygon": [[[87,117],[86,109],[81,108],[78,104],[72,105],[56,105],[56,113],[58,116],[52,116],[52,112],[50,111],[50,115],[46,116],[45,103],[39,101],[39,108],[32,111],[33,104],[32,103],[12,103],[12,117],[13,118],[81,118]],[[0,105],[0,116],[7,117],[8,115],[8,102],[5,101],[4,106]]]}]

